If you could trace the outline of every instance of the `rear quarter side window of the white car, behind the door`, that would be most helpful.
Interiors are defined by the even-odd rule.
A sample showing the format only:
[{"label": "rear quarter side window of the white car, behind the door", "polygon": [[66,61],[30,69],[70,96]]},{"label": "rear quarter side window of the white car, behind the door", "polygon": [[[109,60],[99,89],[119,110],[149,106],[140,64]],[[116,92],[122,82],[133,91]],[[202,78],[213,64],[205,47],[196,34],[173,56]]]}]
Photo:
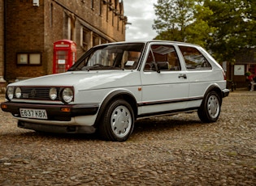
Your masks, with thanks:
[{"label": "rear quarter side window of the white car, behind the door", "polygon": [[211,70],[209,61],[196,48],[179,46],[188,70]]}]

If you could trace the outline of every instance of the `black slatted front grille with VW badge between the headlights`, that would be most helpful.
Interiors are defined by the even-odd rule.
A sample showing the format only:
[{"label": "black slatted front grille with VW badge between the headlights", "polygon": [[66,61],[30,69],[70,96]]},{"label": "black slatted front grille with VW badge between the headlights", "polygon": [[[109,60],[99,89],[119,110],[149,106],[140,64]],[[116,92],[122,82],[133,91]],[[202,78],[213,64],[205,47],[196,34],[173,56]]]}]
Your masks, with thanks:
[{"label": "black slatted front grille with VW badge between the headlights", "polygon": [[[50,99],[50,87],[20,87],[21,99]],[[60,88],[57,87],[57,98],[59,100]]]}]

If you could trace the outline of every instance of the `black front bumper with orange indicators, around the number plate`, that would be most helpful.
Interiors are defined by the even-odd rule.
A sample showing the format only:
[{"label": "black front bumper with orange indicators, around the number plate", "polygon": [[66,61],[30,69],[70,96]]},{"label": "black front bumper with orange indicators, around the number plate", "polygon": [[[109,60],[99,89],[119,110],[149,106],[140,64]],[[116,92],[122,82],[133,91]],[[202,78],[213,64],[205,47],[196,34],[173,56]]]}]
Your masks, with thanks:
[{"label": "black front bumper with orange indicators, around the number plate", "polygon": [[47,120],[70,121],[75,116],[95,115],[98,112],[98,104],[28,104],[4,102],[2,111],[11,112],[15,117],[20,116],[20,108],[44,109],[47,112]]}]

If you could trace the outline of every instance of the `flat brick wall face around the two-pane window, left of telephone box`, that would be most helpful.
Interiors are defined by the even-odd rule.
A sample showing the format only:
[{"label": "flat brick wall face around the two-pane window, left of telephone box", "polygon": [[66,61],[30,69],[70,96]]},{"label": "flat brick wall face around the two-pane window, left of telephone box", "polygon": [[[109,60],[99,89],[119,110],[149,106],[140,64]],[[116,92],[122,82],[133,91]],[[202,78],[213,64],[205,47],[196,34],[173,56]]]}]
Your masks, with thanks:
[{"label": "flat brick wall face around the two-pane window, left of telephone box", "polygon": [[[46,74],[44,54],[44,6],[32,0],[7,1],[6,78],[37,77]],[[41,53],[41,66],[17,65],[17,53]]]}]

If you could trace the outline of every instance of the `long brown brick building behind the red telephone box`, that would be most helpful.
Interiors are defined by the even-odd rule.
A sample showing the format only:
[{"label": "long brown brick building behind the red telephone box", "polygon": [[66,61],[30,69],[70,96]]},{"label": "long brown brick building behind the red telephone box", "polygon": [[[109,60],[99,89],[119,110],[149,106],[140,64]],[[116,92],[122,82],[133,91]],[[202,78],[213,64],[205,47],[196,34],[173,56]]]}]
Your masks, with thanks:
[{"label": "long brown brick building behind the red telephone box", "polygon": [[51,74],[56,40],[73,40],[77,57],[93,45],[125,40],[121,0],[0,2],[0,79]]}]

